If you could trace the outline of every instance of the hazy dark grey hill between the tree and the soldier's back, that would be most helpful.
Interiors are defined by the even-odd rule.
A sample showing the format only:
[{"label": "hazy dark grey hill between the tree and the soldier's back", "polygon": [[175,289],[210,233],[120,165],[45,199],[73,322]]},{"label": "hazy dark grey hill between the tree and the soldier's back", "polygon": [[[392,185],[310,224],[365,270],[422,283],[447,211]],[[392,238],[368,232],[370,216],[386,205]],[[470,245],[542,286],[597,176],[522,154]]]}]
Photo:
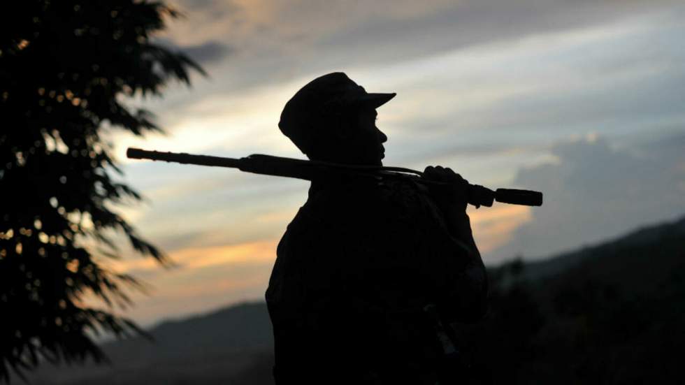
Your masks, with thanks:
[{"label": "hazy dark grey hill between the tree and the soldier's back", "polygon": [[[143,337],[108,342],[112,365],[45,367],[35,384],[240,384],[254,363],[268,363],[273,349],[265,303],[243,303],[178,321],[164,321]],[[254,377],[254,375],[251,375]],[[259,384],[250,382],[250,384]]]}]

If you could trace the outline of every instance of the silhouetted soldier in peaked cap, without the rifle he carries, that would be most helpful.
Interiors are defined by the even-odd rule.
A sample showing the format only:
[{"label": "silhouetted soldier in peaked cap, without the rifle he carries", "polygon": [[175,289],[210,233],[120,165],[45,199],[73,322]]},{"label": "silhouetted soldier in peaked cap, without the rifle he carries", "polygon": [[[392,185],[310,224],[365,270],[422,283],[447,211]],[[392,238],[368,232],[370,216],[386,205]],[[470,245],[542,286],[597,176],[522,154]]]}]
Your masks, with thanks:
[{"label": "silhouetted soldier in peaked cap, without the rifle he carries", "polygon": [[[310,159],[380,166],[387,136],[375,126],[376,108],[394,96],[329,73],[288,101],[279,127]],[[266,291],[277,384],[459,378],[447,323],[483,316],[486,275],[466,215],[466,180],[440,166],[425,174],[452,184],[312,180]]]}]

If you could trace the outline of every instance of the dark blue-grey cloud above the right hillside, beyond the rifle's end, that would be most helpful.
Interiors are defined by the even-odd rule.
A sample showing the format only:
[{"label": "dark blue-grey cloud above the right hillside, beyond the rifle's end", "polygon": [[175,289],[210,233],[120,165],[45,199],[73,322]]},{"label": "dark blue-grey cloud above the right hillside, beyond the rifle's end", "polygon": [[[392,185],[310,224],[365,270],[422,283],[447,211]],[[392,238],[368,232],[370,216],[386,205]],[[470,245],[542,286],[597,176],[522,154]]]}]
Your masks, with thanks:
[{"label": "dark blue-grey cloud above the right hillside, beyond the rifle's end", "polygon": [[549,256],[685,214],[685,133],[620,149],[588,136],[559,143],[557,161],[519,170],[515,184],[545,194],[493,260]]}]

